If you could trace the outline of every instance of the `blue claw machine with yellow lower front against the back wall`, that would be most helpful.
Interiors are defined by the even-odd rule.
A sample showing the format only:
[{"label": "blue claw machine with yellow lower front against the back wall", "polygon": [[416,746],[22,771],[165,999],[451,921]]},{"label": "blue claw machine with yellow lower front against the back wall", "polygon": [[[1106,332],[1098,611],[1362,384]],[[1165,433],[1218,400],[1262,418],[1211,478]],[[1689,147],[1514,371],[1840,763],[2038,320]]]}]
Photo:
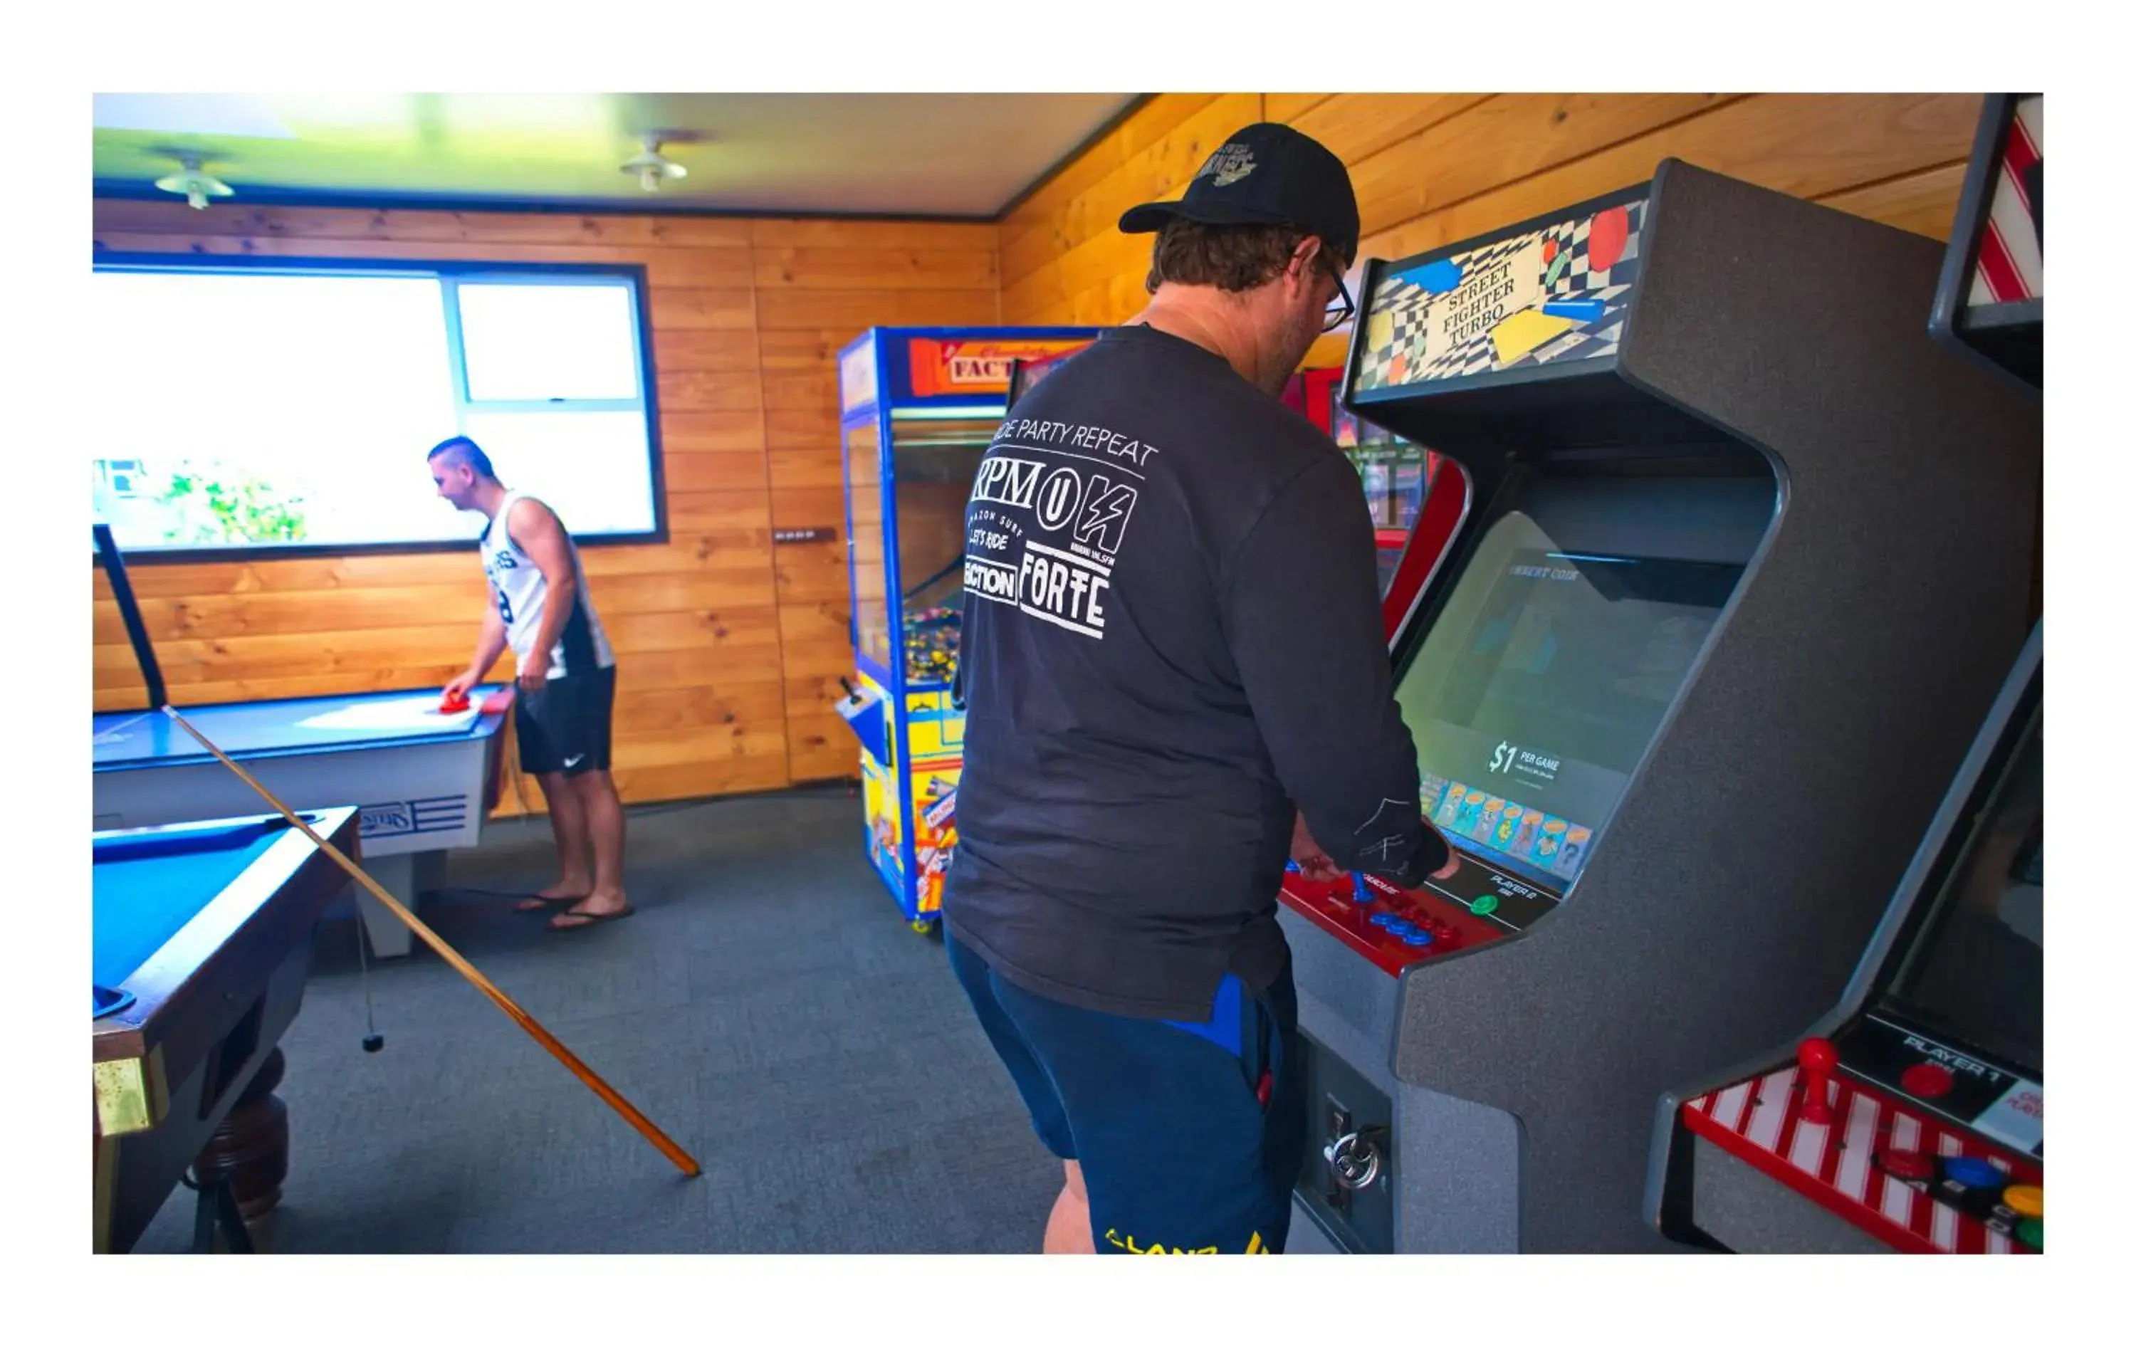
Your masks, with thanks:
[{"label": "blue claw machine with yellow lower front against the back wall", "polygon": [[963,508],[1019,361],[1096,337],[1070,327],[876,327],[837,359],[867,856],[914,931],[933,933],[957,845]]}]

